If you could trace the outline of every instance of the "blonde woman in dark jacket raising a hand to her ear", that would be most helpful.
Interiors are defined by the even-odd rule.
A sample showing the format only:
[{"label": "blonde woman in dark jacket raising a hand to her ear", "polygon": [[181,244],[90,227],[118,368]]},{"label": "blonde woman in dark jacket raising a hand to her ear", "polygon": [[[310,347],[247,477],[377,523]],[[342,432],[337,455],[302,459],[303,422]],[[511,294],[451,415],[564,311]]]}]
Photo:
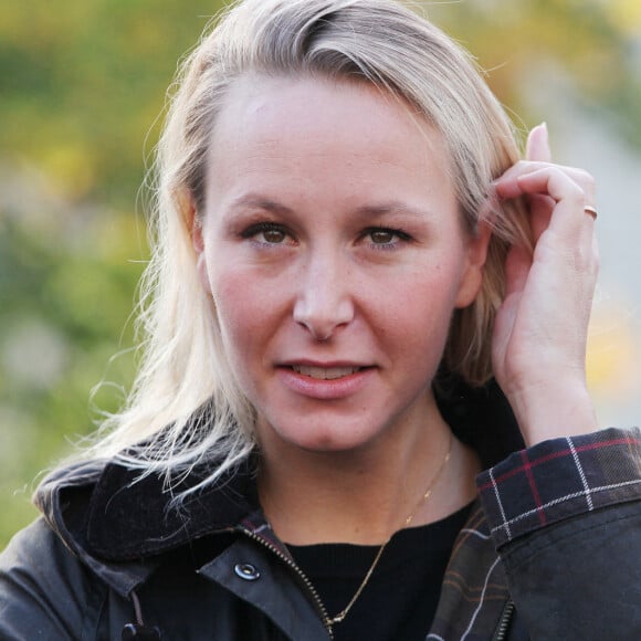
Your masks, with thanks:
[{"label": "blonde woman in dark jacket raising a hand to her ear", "polygon": [[136,388],[4,554],[2,639],[638,638],[593,207],[396,2],[234,7],[159,146]]}]

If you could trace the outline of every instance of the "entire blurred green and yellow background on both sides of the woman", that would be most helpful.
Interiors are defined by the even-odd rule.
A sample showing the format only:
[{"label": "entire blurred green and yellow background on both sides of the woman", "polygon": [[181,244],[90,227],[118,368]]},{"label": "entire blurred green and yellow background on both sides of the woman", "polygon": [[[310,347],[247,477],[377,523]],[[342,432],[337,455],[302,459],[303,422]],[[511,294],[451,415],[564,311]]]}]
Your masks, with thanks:
[{"label": "entire blurred green and yellow background on both sides of the woman", "polygon": [[[35,516],[30,495],[39,474],[72,453],[130,383],[130,312],[147,256],[138,191],[145,159],[177,60],[220,6],[3,4],[0,549]],[[641,178],[641,3],[463,0],[425,7],[488,70],[519,126],[547,119],[563,161],[587,165],[614,185],[603,199],[608,213],[599,218],[605,275],[590,385],[606,422],[638,421],[641,263],[623,237],[641,233],[632,193]]]}]

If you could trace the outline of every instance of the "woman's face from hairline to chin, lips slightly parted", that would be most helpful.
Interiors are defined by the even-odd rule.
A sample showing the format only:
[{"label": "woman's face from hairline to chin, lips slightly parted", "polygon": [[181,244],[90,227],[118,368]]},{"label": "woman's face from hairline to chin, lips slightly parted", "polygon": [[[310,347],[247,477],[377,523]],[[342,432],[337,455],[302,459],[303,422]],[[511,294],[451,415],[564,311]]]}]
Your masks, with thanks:
[{"label": "woman's face from hairline to chin, lips slightly parted", "polygon": [[200,274],[263,443],[345,451],[424,425],[486,244],[427,123],[365,84],[245,77],[202,214]]}]

